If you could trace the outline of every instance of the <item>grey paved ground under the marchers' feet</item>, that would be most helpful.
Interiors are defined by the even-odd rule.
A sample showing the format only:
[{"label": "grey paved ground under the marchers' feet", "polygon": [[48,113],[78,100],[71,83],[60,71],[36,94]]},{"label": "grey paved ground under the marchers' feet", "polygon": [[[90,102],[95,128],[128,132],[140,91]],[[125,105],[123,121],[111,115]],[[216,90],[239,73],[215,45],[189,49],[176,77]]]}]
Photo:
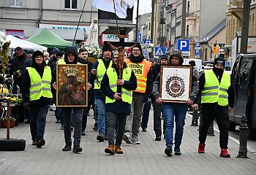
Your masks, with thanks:
[{"label": "grey paved ground under the marchers' feet", "polygon": [[[21,123],[10,130],[10,137],[26,139],[23,152],[0,152],[0,174],[256,174],[256,155],[248,152],[249,159],[236,158],[239,145],[229,140],[231,158],[219,158],[219,133],[208,136],[206,153],[197,153],[197,127],[190,126],[187,116],[181,156],[166,157],[165,140],[154,141],[153,111],[150,112],[148,132],[140,132],[140,145],[123,142],[124,155],[108,155],[104,152],[108,142],[97,142],[97,131],[92,131],[94,120],[88,117],[86,136],[82,136],[80,154],[62,152],[64,131],[55,123],[53,112],[48,113],[45,141],[42,148],[31,145],[29,124]],[[0,138],[6,137],[0,128]]]}]

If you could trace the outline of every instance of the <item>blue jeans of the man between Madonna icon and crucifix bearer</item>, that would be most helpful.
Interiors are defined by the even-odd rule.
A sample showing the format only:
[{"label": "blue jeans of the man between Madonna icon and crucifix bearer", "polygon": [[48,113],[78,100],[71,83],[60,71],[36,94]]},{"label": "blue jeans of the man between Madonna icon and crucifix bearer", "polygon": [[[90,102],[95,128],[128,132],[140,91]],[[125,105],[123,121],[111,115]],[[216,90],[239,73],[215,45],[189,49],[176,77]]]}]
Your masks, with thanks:
[{"label": "blue jeans of the man between Madonna icon and crucifix bearer", "polygon": [[97,104],[97,122],[98,132],[104,135],[106,132],[107,117],[105,112],[105,100],[95,98],[95,104]]}]

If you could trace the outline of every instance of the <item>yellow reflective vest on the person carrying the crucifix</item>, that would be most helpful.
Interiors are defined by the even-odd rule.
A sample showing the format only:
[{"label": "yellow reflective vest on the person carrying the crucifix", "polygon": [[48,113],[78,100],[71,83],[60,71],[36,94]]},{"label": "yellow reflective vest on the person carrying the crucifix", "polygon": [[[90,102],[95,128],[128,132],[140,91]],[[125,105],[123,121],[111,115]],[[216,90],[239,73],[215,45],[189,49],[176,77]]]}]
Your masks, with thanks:
[{"label": "yellow reflective vest on the person carrying the crucifix", "polygon": [[[112,67],[109,67],[107,70],[108,74],[108,79],[109,79],[109,86],[110,89],[113,90],[114,93],[117,91],[117,85],[116,85],[116,80],[117,80],[117,74],[116,70],[113,69]],[[123,79],[125,81],[129,81],[129,78],[131,77],[132,74],[132,69],[126,68],[123,70]],[[121,99],[124,102],[127,102],[128,104],[132,104],[132,90],[127,90],[125,88],[121,88]],[[106,96],[106,104],[110,104],[115,102],[115,99],[111,99],[108,96]]]}]

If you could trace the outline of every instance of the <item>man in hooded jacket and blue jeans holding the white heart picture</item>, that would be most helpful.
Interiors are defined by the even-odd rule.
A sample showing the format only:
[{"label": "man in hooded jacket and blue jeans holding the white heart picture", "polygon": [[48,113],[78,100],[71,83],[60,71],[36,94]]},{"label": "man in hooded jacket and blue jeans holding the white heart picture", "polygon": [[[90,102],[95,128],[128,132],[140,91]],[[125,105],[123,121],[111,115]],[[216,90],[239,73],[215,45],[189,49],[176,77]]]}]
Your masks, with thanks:
[{"label": "man in hooded jacket and blue jeans holding the white heart picture", "polygon": [[[181,66],[184,61],[184,58],[181,55],[179,50],[175,50],[172,55],[170,55],[170,65]],[[189,77],[188,77],[189,78]],[[172,156],[172,147],[173,147],[173,126],[175,122],[176,131],[175,131],[175,155],[181,155],[181,140],[184,133],[185,117],[187,114],[187,105],[193,104],[197,97],[198,85],[197,77],[192,77],[192,93],[184,103],[175,103],[175,102],[163,102],[162,97],[159,94],[159,80],[158,76],[154,82],[154,98],[158,104],[162,104],[163,114],[165,118],[165,154],[170,157]],[[175,120],[174,120],[175,117]]]}]

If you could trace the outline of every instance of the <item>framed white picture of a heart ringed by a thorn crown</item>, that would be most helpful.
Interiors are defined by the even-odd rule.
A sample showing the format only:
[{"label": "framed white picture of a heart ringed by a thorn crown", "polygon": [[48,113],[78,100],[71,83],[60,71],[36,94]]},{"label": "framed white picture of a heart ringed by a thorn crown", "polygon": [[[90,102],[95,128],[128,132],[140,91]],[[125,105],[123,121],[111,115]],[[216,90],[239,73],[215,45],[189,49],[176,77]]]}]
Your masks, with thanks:
[{"label": "framed white picture of a heart ringed by a thorn crown", "polygon": [[192,66],[162,65],[159,86],[162,101],[185,103],[192,92],[192,75]]}]

